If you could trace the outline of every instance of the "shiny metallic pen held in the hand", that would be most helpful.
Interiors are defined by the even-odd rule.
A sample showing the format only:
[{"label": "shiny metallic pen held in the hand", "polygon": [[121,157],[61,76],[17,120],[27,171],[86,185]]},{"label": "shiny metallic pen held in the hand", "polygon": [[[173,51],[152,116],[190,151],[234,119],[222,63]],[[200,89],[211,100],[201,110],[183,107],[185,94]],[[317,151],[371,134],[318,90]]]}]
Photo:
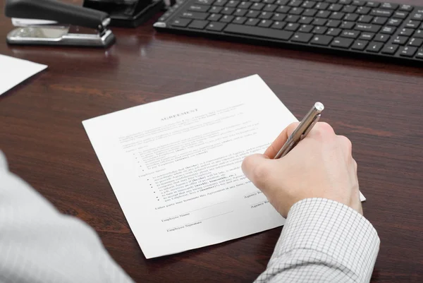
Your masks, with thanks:
[{"label": "shiny metallic pen held in the hand", "polygon": [[300,140],[307,136],[307,133],[309,133],[317,121],[319,121],[323,109],[323,104],[320,102],[314,103],[312,109],[310,109],[307,115],[305,115],[305,117],[301,120],[300,125],[295,128],[295,131],[293,131],[293,133],[289,136],[288,140],[286,140],[286,143],[283,145],[281,150],[279,150],[274,159],[287,155],[288,152],[290,152],[290,150],[292,150],[295,145],[300,142]]}]

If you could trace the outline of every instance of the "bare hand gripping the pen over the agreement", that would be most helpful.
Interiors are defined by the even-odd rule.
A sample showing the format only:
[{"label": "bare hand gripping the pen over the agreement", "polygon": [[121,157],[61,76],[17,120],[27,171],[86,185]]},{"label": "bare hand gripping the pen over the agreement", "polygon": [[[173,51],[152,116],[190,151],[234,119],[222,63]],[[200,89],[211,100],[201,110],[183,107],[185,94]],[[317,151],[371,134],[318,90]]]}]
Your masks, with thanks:
[{"label": "bare hand gripping the pen over the agreement", "polygon": [[290,124],[283,130],[264,155],[245,157],[245,176],[283,217],[305,198],[336,200],[362,214],[351,142],[345,136],[337,136],[329,124],[317,123],[288,155],[273,159],[297,126],[298,123]]}]

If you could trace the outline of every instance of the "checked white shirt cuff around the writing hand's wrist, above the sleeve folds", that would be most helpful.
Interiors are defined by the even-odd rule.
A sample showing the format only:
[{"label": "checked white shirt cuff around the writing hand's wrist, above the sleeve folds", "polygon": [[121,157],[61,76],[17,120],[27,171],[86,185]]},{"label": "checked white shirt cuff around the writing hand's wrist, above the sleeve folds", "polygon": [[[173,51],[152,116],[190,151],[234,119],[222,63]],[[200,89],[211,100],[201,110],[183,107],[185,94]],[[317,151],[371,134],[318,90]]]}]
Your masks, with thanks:
[{"label": "checked white shirt cuff around the writing hand's wrist, above the sleeve folds", "polygon": [[324,254],[357,282],[369,282],[379,253],[376,229],[353,208],[324,198],[307,198],[288,212],[269,267],[292,251]]}]

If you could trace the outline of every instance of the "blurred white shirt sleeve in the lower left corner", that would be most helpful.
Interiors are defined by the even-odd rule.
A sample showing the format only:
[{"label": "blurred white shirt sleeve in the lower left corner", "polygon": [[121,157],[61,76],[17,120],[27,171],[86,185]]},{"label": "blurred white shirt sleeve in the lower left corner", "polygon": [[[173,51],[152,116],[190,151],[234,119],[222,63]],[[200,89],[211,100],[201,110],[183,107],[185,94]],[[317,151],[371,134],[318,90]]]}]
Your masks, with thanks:
[{"label": "blurred white shirt sleeve in the lower left corner", "polygon": [[0,282],[133,282],[85,222],[59,213],[0,151]]}]

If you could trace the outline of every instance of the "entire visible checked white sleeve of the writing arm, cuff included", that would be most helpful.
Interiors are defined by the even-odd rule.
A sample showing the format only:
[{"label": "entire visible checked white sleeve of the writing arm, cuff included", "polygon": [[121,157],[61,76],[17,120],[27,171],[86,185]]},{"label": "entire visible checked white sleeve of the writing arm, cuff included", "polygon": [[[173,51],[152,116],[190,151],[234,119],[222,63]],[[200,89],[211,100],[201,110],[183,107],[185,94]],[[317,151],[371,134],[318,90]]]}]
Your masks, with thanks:
[{"label": "entire visible checked white sleeve of the writing arm, cuff included", "polygon": [[291,207],[265,272],[256,282],[369,282],[379,237],[367,219],[333,200]]}]

